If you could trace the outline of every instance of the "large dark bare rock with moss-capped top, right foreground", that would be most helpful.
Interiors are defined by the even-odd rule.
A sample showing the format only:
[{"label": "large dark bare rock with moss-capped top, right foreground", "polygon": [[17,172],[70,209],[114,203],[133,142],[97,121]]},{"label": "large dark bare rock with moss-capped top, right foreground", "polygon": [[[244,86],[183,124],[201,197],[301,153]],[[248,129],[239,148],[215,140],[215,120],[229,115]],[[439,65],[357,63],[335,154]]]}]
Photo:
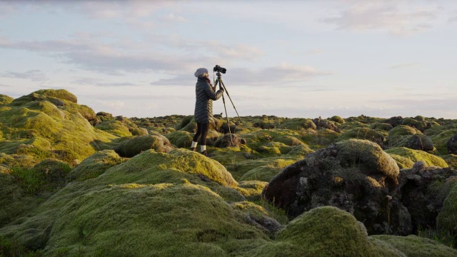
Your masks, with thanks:
[{"label": "large dark bare rock with moss-capped top, right foreground", "polygon": [[[263,196],[291,218],[319,206],[336,206],[362,221],[368,233],[411,230],[408,211],[391,201],[398,173],[396,162],[376,143],[350,139],[284,168]],[[389,224],[389,216],[396,223]]]}]

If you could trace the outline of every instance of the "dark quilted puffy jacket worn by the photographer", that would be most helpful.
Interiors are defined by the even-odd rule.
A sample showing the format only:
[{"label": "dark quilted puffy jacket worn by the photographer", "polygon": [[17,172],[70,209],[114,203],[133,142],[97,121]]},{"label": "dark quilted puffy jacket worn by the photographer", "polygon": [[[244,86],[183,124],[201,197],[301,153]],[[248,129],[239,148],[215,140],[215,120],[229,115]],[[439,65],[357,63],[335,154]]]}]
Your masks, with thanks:
[{"label": "dark quilted puffy jacket worn by the photographer", "polygon": [[208,123],[213,121],[213,100],[220,99],[224,89],[213,91],[211,84],[205,79],[198,78],[195,85],[195,121]]}]

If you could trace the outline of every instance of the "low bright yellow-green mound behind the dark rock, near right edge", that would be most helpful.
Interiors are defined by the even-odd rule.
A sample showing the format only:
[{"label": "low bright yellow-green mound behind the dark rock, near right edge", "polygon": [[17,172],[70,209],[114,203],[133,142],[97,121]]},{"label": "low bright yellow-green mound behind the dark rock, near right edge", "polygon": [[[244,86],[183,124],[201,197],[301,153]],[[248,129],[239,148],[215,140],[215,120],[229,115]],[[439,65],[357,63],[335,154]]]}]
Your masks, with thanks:
[{"label": "low bright yellow-green mound behind the dark rock, near right edge", "polygon": [[388,154],[396,154],[410,159],[413,162],[422,161],[426,166],[437,166],[441,168],[447,168],[448,163],[443,160],[443,158],[435,156],[425,151],[413,150],[406,147],[395,147],[386,150]]}]

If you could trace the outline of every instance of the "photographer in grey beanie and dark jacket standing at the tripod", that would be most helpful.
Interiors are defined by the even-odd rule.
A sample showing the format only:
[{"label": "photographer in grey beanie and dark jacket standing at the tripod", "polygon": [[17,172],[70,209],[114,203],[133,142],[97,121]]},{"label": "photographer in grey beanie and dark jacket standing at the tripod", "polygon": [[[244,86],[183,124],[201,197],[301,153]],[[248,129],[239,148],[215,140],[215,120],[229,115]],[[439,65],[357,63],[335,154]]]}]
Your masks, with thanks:
[{"label": "photographer in grey beanie and dark jacket standing at the tripod", "polygon": [[219,84],[219,90],[216,91],[216,86],[211,84],[208,70],[205,68],[197,69],[194,75],[197,77],[194,111],[197,131],[192,141],[191,151],[196,151],[197,144],[200,143],[201,154],[208,156],[208,151],[206,150],[206,136],[209,131],[209,123],[214,122],[213,101],[221,98],[224,94],[224,89],[221,84]]}]

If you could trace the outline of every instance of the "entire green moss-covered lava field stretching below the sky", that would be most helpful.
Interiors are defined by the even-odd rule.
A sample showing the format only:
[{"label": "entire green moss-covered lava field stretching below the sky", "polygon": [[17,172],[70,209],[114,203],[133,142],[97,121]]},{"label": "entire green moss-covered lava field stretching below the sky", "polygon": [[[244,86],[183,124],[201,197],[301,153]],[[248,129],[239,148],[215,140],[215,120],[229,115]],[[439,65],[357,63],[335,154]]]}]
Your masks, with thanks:
[{"label": "entire green moss-covered lava field stretching below the sky", "polygon": [[[457,179],[449,175],[456,173],[457,156],[453,141],[448,143],[457,134],[457,120],[363,115],[224,120],[216,116],[210,126],[214,156],[207,158],[189,151],[193,116],[96,114],[65,90],[19,99],[0,95],[0,256],[457,255],[452,248]],[[352,142],[370,147],[340,147]],[[369,149],[388,161],[369,164]],[[299,173],[303,161],[306,172],[338,167],[363,174],[330,181],[338,188],[326,202],[331,206],[317,201],[321,196],[311,188],[307,201],[313,208],[291,218],[262,192],[272,178],[288,176],[281,172]],[[390,182],[373,169],[387,169]],[[346,190],[352,177],[360,178],[358,188],[376,190]],[[307,179],[300,183],[315,183],[326,193],[327,181]],[[436,218],[433,227],[414,228],[410,236],[368,235],[366,222],[356,219],[361,213],[343,211],[343,195],[366,203],[361,196],[376,194],[371,203],[384,208],[383,199],[393,195],[388,190],[407,199],[403,204],[411,213],[421,213],[417,206],[428,208],[424,213]],[[391,213],[408,213],[402,210]]]}]

